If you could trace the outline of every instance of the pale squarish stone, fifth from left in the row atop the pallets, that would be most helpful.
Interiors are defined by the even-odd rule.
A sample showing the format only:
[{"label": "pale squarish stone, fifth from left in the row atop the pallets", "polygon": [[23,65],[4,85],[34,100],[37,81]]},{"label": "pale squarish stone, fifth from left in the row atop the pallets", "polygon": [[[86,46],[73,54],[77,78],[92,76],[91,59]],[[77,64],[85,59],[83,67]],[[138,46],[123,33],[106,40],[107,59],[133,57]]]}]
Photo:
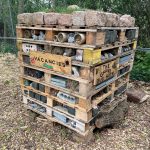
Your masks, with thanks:
[{"label": "pale squarish stone, fifth from left in the row atop the pallets", "polygon": [[72,14],[74,26],[85,26],[85,11],[75,11]]}]

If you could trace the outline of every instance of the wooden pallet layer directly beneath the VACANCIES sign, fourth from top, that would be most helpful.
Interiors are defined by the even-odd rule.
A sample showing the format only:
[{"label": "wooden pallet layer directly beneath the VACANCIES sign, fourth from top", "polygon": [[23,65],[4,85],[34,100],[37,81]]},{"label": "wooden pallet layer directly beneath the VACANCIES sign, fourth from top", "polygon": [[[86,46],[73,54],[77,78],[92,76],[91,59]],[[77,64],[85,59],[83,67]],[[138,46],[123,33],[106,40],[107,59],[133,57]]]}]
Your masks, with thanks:
[{"label": "wooden pallet layer directly beneath the VACANCIES sign, fourth from top", "polygon": [[[61,77],[63,77],[63,79],[65,79],[67,81],[69,80],[69,82],[70,81],[73,81],[73,82],[76,81],[77,86],[75,86],[75,87],[77,87],[78,90],[75,90],[75,88],[71,88],[71,87],[62,87],[62,86],[53,84],[50,80],[51,77],[53,76],[53,73],[44,72],[43,69],[35,68],[32,66],[26,66],[26,65],[22,66],[21,67],[21,77],[25,78],[27,80],[35,81],[35,82],[53,87],[56,90],[65,91],[66,93],[72,94],[73,96],[76,96],[76,97],[81,98],[81,99],[91,99],[91,97],[93,95],[97,94],[99,91],[101,91],[101,89],[103,89],[104,87],[106,87],[109,84],[111,84],[112,82],[114,82],[117,78],[120,78],[124,74],[130,72],[132,69],[132,66],[133,66],[133,62],[127,64],[126,66],[124,66],[124,68],[123,67],[118,68],[118,71],[115,72],[114,77],[110,78],[107,81],[105,80],[104,82],[101,82],[101,83],[97,82],[99,84],[94,84],[92,82],[88,82],[88,80],[79,80],[79,79],[74,80],[73,78],[70,78],[69,76],[65,77],[64,75],[61,76],[61,75],[56,75],[54,73],[54,76],[55,75],[58,77],[61,76]],[[37,78],[32,77],[30,75],[25,75],[24,69],[28,69],[28,68],[41,71],[43,73],[42,78],[37,79]]]}]

